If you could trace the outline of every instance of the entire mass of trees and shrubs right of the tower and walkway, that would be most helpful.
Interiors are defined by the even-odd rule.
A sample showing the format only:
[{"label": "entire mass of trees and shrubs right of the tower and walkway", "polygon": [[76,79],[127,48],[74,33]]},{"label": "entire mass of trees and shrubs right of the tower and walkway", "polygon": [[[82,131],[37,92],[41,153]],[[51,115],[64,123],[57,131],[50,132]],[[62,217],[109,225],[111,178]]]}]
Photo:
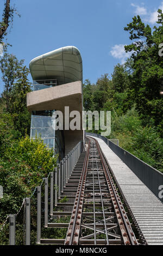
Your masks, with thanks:
[{"label": "entire mass of trees and shrubs right of the tower and walkway", "polygon": [[[163,42],[161,10],[158,10],[157,23],[159,26],[152,29],[142,22],[140,16],[134,16],[127,24],[124,30],[129,32],[133,43],[126,45],[125,50],[132,55],[126,63],[114,67],[112,80],[105,74],[96,85],[89,82],[87,98],[90,97],[91,104],[87,110],[111,110],[109,138],[119,139],[121,147],[163,171],[160,138],[163,125],[160,95],[163,58],[158,54],[159,44]],[[92,132],[101,131],[92,129]]]}]

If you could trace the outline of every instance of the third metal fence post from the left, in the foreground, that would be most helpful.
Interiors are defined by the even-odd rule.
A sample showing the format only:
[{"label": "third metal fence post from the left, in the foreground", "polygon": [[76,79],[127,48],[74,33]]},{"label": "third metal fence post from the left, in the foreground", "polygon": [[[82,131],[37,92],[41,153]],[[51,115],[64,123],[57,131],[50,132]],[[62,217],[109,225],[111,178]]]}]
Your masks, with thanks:
[{"label": "third metal fence post from the left, in the foreground", "polygon": [[37,243],[41,239],[41,186],[37,187]]}]

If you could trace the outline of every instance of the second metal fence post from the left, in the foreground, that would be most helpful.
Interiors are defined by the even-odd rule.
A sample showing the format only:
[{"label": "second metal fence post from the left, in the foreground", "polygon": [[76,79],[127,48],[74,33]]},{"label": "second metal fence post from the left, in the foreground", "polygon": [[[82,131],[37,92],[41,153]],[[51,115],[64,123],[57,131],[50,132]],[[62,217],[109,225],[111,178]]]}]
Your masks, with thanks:
[{"label": "second metal fence post from the left, in the foreground", "polygon": [[30,245],[30,198],[26,198],[26,245]]}]

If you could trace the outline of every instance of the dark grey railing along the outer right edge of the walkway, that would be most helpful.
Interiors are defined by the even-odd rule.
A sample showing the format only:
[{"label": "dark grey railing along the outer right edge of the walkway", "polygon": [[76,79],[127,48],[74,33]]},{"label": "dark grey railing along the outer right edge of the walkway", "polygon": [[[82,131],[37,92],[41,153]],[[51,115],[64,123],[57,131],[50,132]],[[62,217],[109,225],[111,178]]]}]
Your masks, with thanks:
[{"label": "dark grey railing along the outer right edge of the walkway", "polygon": [[135,157],[133,154],[124,150],[100,134],[86,133],[86,135],[95,136],[96,138],[102,139],[163,203],[163,197],[161,198],[159,196],[159,193],[163,187],[163,174],[160,171],[154,169],[152,166],[146,164],[139,158]]}]

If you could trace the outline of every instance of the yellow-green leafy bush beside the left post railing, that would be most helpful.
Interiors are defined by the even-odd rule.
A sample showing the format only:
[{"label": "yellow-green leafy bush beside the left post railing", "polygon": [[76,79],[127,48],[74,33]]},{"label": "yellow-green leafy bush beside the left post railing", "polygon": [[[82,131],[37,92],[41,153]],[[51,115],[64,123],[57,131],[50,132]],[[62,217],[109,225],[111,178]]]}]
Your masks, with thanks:
[{"label": "yellow-green leafy bush beside the left post railing", "polygon": [[0,200],[0,218],[15,213],[22,199],[30,196],[32,189],[56,166],[57,156],[48,150],[40,138],[8,140],[9,146],[0,159],[0,184],[4,197]]}]

